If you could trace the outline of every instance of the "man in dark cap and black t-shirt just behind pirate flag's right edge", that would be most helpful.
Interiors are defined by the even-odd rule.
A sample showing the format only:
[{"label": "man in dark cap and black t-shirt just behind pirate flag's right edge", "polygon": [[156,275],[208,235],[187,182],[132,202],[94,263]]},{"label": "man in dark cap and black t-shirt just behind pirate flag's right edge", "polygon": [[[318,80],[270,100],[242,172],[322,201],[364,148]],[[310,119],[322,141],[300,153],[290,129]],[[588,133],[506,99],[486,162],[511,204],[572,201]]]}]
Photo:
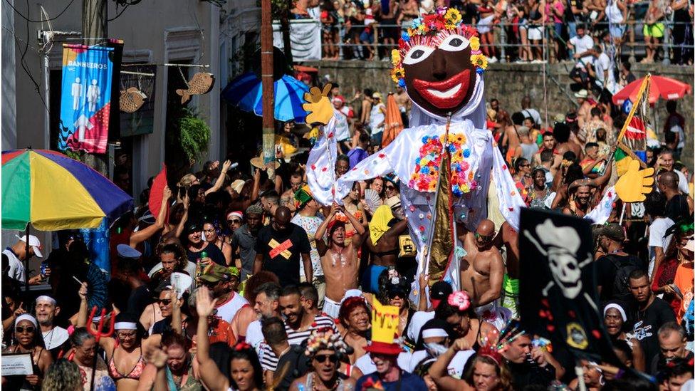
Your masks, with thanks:
[{"label": "man in dark cap and black t-shirt just behind pirate flag's right edge", "polygon": [[625,231],[620,224],[602,226],[597,241],[606,254],[596,260],[596,279],[601,301],[629,300],[632,296],[627,281],[629,273],[635,269],[647,270],[647,265],[637,256],[623,251]]}]

